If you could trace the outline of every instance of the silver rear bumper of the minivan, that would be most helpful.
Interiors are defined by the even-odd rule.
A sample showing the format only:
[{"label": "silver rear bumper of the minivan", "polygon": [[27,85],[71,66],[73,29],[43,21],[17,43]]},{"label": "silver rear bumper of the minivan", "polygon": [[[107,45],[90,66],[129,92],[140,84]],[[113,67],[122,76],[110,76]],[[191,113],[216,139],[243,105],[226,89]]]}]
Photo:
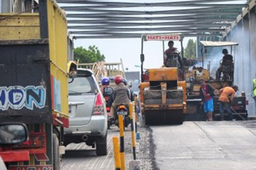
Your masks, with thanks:
[{"label": "silver rear bumper of the minivan", "polygon": [[92,116],[87,125],[70,125],[64,129],[65,136],[105,136],[108,129],[107,115]]}]

